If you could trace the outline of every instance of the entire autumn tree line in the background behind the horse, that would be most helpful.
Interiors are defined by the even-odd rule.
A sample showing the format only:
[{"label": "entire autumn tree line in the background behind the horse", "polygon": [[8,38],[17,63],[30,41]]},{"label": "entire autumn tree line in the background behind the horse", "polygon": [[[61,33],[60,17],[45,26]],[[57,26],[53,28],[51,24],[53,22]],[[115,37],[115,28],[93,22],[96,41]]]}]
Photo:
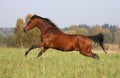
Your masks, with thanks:
[{"label": "entire autumn tree line in the background behind the horse", "polygon": [[[40,31],[35,28],[30,30],[28,33],[23,32],[24,24],[30,19],[32,14],[27,14],[25,20],[18,18],[14,33],[11,35],[4,36],[0,33],[0,46],[7,47],[28,47],[32,44],[40,43]],[[79,34],[79,35],[96,35],[103,33],[105,43],[115,43],[120,45],[120,28],[118,25],[70,25],[62,29],[66,34]]]}]

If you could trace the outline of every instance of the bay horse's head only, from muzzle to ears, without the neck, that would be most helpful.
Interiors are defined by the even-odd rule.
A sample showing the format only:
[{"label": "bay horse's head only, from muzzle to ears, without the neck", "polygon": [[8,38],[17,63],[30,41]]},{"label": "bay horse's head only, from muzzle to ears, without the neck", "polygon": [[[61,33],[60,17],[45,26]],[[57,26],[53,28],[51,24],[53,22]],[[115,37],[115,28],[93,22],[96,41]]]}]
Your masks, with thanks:
[{"label": "bay horse's head only, from muzzle to ears, without the neck", "polygon": [[33,15],[29,21],[25,24],[23,31],[26,33],[27,31],[35,28],[37,26],[37,15]]}]

